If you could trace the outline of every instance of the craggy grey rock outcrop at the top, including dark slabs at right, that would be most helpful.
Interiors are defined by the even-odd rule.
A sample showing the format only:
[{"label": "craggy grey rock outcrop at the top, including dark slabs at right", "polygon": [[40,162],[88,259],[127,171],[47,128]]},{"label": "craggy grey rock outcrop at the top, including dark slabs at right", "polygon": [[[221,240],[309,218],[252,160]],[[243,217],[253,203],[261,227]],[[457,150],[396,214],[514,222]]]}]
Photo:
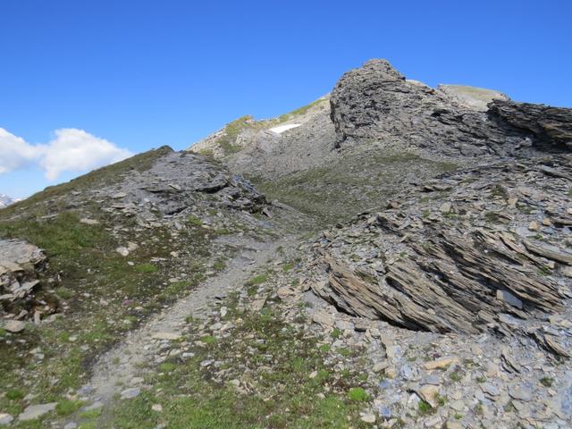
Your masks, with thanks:
[{"label": "craggy grey rock outcrop at the top, including dark slabs at right", "polygon": [[[370,61],[344,74],[332,91],[337,145],[374,139],[442,155],[518,155],[557,138],[554,148],[569,150],[561,140],[569,139],[572,109],[509,102],[492,91],[478,97],[456,92],[408,81],[385,60]],[[501,99],[484,112],[483,97]]]}]

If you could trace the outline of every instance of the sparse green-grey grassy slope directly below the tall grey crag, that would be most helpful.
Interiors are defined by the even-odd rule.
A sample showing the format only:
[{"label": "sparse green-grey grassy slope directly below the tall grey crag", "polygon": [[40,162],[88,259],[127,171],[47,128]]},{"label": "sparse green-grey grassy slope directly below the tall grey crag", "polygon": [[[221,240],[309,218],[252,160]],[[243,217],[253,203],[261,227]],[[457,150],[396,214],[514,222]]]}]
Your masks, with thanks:
[{"label": "sparse green-grey grassy slope directly below the tall grey crag", "polygon": [[436,162],[408,152],[372,150],[346,153],[327,166],[293,172],[272,181],[256,176],[248,179],[267,198],[278,199],[312,215],[318,220],[318,226],[324,227],[385,206],[403,187],[404,172],[416,172],[420,179],[457,168],[456,164]]}]

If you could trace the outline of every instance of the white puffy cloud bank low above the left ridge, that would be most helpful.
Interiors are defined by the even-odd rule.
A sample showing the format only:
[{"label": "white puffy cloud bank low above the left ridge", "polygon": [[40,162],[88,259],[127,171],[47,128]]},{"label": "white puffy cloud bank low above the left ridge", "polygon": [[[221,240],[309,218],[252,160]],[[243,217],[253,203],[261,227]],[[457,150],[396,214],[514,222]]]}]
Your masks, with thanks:
[{"label": "white puffy cloud bank low above the left ridge", "polygon": [[38,163],[46,179],[55,181],[63,172],[87,172],[132,155],[84,130],[55,130],[55,139],[46,145],[30,145],[0,128],[0,174]]}]

